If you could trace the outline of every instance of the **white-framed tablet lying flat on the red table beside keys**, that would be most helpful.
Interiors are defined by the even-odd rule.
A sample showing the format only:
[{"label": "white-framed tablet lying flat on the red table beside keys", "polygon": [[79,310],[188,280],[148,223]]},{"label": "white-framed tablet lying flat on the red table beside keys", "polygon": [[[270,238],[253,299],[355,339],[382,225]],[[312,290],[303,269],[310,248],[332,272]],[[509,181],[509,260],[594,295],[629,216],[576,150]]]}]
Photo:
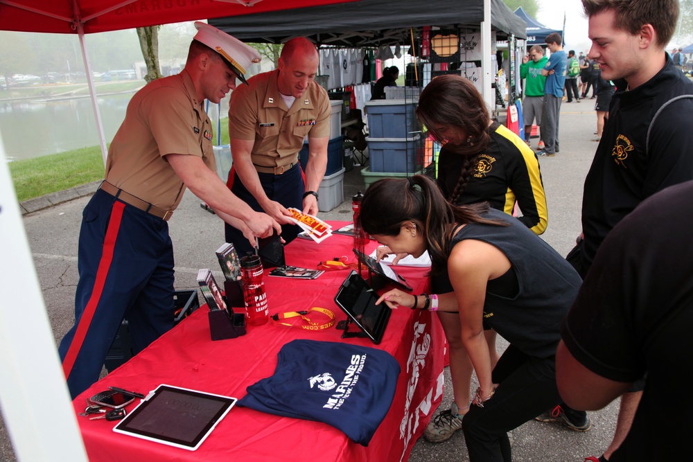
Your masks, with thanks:
[{"label": "white-framed tablet lying flat on the red table beside keys", "polygon": [[162,384],[113,431],[194,451],[236,401],[229,396]]}]

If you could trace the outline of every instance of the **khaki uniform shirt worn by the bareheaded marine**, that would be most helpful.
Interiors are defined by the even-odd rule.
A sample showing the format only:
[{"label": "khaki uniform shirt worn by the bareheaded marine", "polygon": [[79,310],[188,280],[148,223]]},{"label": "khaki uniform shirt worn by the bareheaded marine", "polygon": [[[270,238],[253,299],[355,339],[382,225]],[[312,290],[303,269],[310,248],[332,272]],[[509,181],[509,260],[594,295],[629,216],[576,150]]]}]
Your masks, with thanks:
[{"label": "khaki uniform shirt worn by the bareheaded marine", "polygon": [[330,134],[331,106],[327,92],[315,82],[288,108],[279,94],[279,69],[248,80],[231,93],[229,135],[254,141],[252,163],[284,167],[298,162],[306,135]]}]

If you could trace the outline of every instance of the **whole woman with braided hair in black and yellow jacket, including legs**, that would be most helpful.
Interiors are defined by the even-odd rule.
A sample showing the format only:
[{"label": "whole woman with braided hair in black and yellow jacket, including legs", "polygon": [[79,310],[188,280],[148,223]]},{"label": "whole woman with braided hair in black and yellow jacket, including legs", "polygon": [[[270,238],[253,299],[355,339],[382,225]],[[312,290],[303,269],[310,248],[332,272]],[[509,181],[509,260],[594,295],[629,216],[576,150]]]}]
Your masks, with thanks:
[{"label": "whole woman with braided hair in black and yellow jacket, including legs", "polygon": [[[441,75],[421,92],[416,115],[431,136],[441,143],[438,186],[455,205],[487,202],[509,215],[517,202],[518,217],[536,234],[546,229],[547,209],[539,163],[534,151],[507,127],[491,121],[486,104],[471,81],[459,75]],[[383,253],[387,251],[385,249]],[[432,278],[433,292],[452,292],[445,277]],[[462,428],[470,400],[473,367],[462,345],[459,317],[440,313],[450,345],[450,374],[455,400],[426,428],[432,443],[446,441]],[[498,361],[495,332],[486,330],[491,364]]]}]

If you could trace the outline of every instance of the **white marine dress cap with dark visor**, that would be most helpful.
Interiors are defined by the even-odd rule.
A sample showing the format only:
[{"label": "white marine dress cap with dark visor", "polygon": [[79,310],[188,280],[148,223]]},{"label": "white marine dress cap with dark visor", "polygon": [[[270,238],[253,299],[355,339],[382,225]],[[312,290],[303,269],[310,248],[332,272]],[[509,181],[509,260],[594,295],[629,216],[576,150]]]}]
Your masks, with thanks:
[{"label": "white marine dress cap with dark visor", "polygon": [[245,85],[248,85],[243,74],[245,74],[246,69],[252,63],[260,62],[260,53],[255,48],[251,48],[236,39],[236,37],[232,37],[207,23],[195,21],[195,28],[198,30],[198,33],[195,34],[193,40],[197,40],[219,53],[231,70],[238,75],[238,79]]}]

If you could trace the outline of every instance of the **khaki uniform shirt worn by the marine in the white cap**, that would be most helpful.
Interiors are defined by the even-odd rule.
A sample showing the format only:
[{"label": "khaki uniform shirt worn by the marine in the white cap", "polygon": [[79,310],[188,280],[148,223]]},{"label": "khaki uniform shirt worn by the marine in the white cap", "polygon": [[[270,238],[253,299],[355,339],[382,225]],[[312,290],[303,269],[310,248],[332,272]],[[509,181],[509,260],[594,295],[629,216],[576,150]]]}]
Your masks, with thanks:
[{"label": "khaki uniform shirt worn by the marine in the white cap", "polygon": [[130,100],[108,150],[106,181],[164,210],[185,186],[166,154],[191,154],[216,170],[212,127],[187,71],[150,82]]}]

